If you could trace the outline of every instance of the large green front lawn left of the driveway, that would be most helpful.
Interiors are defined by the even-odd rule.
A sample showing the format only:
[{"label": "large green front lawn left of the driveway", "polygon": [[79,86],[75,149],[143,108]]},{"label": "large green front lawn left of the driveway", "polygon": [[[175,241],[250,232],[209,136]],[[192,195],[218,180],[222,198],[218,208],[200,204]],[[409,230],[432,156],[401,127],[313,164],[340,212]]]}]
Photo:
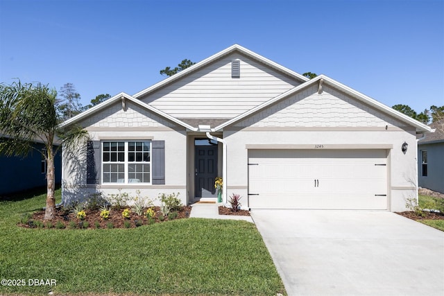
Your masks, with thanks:
[{"label": "large green front lawn left of the driveway", "polygon": [[22,214],[44,202],[44,194],[0,201],[0,277],[57,285],[0,286],[0,295],[284,293],[251,223],[189,218],[134,229],[17,227]]}]

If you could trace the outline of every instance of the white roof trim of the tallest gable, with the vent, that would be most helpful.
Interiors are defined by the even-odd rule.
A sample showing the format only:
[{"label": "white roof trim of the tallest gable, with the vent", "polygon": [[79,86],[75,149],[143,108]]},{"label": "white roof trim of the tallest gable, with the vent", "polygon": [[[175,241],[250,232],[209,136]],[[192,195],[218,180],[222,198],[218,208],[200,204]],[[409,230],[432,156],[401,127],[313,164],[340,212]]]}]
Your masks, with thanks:
[{"label": "white roof trim of the tallest gable, with the vent", "polygon": [[267,58],[264,58],[262,55],[258,55],[257,53],[254,53],[253,51],[250,51],[250,50],[246,49],[245,47],[240,46],[239,44],[234,44],[234,45],[228,47],[228,49],[224,49],[223,51],[219,51],[219,53],[216,53],[216,54],[210,56],[210,58],[206,58],[205,60],[202,60],[202,61],[192,65],[191,67],[188,67],[187,69],[174,74],[173,76],[171,76],[169,78],[166,78],[160,82],[157,82],[155,85],[148,87],[146,89],[143,89],[142,91],[138,92],[137,94],[133,94],[133,97],[140,98],[142,96],[146,96],[147,94],[150,94],[151,92],[155,92],[156,89],[160,89],[161,87],[169,85],[176,80],[179,80],[185,76],[188,76],[190,73],[198,71],[199,69],[206,67],[208,64],[211,64],[212,62],[219,60],[220,58],[224,57],[225,55],[229,55],[234,52],[246,55],[248,58],[251,58],[252,60],[256,60],[257,62],[265,64],[266,66],[271,67],[281,73],[284,73],[287,76],[290,76],[296,80],[299,80],[300,82],[305,82],[305,81],[309,80],[309,78],[302,76],[299,73],[296,73],[295,71],[292,71],[292,70],[290,70],[290,69],[288,69],[276,62],[273,62],[272,60],[268,60]]}]

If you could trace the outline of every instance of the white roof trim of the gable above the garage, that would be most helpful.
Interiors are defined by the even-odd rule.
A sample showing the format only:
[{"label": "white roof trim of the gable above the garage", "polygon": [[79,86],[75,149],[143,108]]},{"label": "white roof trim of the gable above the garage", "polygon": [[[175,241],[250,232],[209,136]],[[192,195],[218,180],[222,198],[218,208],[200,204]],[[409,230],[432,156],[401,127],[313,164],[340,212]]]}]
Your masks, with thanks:
[{"label": "white roof trim of the gable above the garage", "polygon": [[293,87],[293,89],[289,89],[289,91],[284,92],[283,94],[280,94],[279,96],[275,96],[275,98],[272,98],[269,101],[266,101],[265,103],[262,103],[261,105],[258,105],[257,107],[254,107],[251,110],[248,110],[247,112],[244,112],[243,114],[240,114],[239,116],[234,117],[233,119],[230,119],[229,121],[226,121],[225,123],[222,123],[221,125],[216,126],[214,128],[214,131],[222,130],[228,125],[231,125],[233,123],[236,123],[238,121],[241,121],[242,119],[245,119],[247,116],[250,116],[252,114],[255,114],[256,112],[259,112],[261,110],[266,109],[266,107],[273,105],[274,103],[278,103],[279,101],[284,100],[285,98],[288,98],[289,96],[293,94],[297,94],[302,89],[305,89],[306,87],[316,85],[316,84],[327,84],[331,87],[334,87],[336,89],[339,89],[341,92],[344,92],[345,94],[348,94],[349,96],[352,96],[352,98],[356,98],[358,101],[361,101],[362,103],[366,103],[367,105],[370,105],[371,107],[374,107],[375,109],[381,111],[384,114],[388,114],[393,116],[395,119],[398,119],[399,121],[402,121],[404,123],[407,123],[408,125],[413,126],[416,128],[418,132],[431,132],[432,129],[425,125],[424,123],[420,123],[419,121],[416,121],[415,119],[412,119],[410,116],[407,116],[405,114],[402,114],[401,112],[398,112],[397,110],[394,110],[391,107],[388,107],[387,105],[384,105],[382,103],[379,103],[373,98],[370,98],[369,96],[366,96],[364,94],[361,94],[360,92],[357,92],[355,89],[352,89],[346,85],[343,85],[340,82],[337,82],[336,80],[333,80],[332,78],[320,75],[316,76],[315,78],[308,80],[305,83],[302,83],[301,85],[298,85],[297,87]]}]

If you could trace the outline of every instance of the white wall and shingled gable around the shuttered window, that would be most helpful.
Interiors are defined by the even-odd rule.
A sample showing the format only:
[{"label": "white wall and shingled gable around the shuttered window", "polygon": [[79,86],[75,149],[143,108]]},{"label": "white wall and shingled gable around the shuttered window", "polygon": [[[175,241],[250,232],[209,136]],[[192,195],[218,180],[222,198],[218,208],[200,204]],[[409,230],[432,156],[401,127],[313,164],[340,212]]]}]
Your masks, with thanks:
[{"label": "white wall and shingled gable around the shuttered window", "polygon": [[[173,123],[160,119],[134,104],[122,110],[121,104],[112,105],[108,110],[86,119],[80,125],[88,130],[93,141],[162,140],[165,143],[165,184],[86,184],[86,145],[78,143],[74,152],[65,150],[63,198],[65,202],[84,200],[92,193],[130,193],[151,200],[160,193],[180,193],[182,203],[187,204],[186,194],[186,132]],[[158,204],[158,202],[157,202]]]}]

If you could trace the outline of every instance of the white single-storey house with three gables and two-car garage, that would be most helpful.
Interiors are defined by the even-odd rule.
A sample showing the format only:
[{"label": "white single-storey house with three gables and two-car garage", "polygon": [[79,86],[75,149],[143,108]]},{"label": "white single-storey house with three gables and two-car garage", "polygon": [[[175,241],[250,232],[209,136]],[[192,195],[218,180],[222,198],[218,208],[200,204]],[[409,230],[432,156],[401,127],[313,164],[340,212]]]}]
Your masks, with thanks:
[{"label": "white single-storey house with three gables and two-car garage", "polygon": [[188,204],[214,196],[223,176],[223,202],[238,193],[252,209],[404,210],[418,196],[416,134],[431,130],[239,45],[62,127],[73,124],[92,141],[64,150],[65,202],[121,189]]}]

